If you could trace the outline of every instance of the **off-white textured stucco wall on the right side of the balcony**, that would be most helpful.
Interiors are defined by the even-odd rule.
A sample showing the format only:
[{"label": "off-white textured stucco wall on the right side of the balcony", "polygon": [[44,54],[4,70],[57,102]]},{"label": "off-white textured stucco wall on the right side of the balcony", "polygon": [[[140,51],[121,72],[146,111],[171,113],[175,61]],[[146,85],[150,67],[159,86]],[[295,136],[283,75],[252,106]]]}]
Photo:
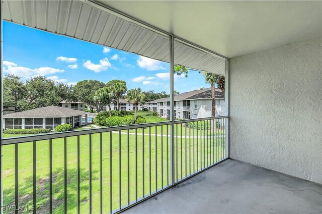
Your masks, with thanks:
[{"label": "off-white textured stucco wall on the right side of the balcony", "polygon": [[230,157],[322,183],[322,37],[230,60]]}]

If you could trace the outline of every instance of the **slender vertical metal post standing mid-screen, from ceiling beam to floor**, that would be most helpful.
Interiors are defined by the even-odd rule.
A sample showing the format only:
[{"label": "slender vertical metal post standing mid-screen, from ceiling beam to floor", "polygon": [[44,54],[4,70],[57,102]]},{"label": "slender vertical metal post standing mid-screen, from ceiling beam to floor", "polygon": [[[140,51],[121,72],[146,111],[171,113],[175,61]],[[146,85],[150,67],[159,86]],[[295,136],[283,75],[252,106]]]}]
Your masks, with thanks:
[{"label": "slender vertical metal post standing mid-screen, from ceiling beam to floor", "polygon": [[170,36],[170,106],[171,106],[171,111],[170,111],[170,120],[171,120],[171,126],[170,126],[170,135],[171,135],[171,168],[172,168],[172,173],[171,173],[171,180],[172,180],[172,185],[175,185],[175,167],[174,167],[174,160],[175,160],[175,153],[174,153],[174,141],[175,141],[175,96],[174,96],[174,90],[175,90],[175,78],[174,78],[174,37]]}]

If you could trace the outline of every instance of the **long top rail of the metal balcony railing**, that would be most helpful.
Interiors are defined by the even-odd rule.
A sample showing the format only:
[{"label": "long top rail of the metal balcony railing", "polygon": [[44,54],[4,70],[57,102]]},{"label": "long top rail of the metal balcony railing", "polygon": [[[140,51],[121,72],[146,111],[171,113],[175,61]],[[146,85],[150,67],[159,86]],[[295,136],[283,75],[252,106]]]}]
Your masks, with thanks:
[{"label": "long top rail of the metal balcony railing", "polygon": [[[202,121],[202,120],[220,119],[220,118],[228,118],[228,116],[177,120],[175,121],[175,124]],[[3,146],[3,145],[16,144],[16,143],[26,143],[26,142],[32,142],[32,141],[49,140],[49,139],[56,139],[56,138],[63,138],[63,137],[73,137],[73,136],[79,136],[79,135],[96,134],[96,133],[103,133],[103,132],[110,132],[110,131],[146,128],[146,127],[152,127],[152,126],[162,126],[162,125],[171,125],[171,124],[172,124],[171,121],[167,121],[167,122],[144,123],[144,124],[135,124],[135,125],[127,125],[127,126],[114,126],[114,127],[100,128],[100,129],[77,130],[77,131],[69,131],[69,132],[61,132],[61,133],[46,133],[46,134],[38,134],[38,135],[32,135],[32,136],[9,137],[9,138],[1,139],[1,145]]]}]

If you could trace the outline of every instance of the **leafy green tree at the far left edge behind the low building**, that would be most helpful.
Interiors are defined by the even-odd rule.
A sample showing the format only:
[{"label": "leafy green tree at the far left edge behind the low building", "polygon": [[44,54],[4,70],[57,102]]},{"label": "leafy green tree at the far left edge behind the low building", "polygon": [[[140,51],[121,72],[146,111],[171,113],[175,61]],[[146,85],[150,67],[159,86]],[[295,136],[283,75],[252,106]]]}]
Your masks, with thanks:
[{"label": "leafy green tree at the far left edge behind the low building", "polygon": [[18,102],[26,96],[25,83],[20,77],[13,74],[6,74],[4,78],[4,106],[19,108]]}]

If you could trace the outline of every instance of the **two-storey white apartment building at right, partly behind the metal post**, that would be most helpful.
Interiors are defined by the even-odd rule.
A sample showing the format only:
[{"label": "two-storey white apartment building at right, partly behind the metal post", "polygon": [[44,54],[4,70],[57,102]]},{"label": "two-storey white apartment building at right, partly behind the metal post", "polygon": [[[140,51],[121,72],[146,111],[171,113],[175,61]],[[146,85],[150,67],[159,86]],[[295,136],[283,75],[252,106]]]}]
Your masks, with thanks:
[{"label": "two-storey white apartment building at right, partly behind the metal post", "polygon": [[[160,98],[146,102],[149,111],[157,112],[161,117],[170,117],[170,98]],[[196,119],[211,117],[211,88],[185,92],[175,95],[175,118]],[[224,93],[216,88],[216,116],[226,114]]]}]

